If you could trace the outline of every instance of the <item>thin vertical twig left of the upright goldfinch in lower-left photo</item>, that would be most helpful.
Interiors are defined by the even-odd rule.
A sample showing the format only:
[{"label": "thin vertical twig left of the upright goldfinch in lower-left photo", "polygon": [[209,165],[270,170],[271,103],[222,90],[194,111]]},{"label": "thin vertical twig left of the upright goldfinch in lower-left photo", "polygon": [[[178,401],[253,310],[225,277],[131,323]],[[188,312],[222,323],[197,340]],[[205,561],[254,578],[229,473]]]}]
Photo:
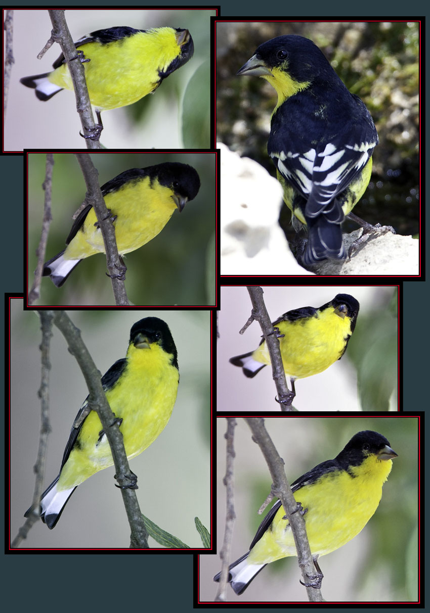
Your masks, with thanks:
[{"label": "thin vertical twig left of the upright goldfinch in lower-left photo", "polygon": [[[52,337],[52,320],[53,311],[39,311],[40,329],[42,330],[42,342],[40,343],[40,361],[41,375],[40,387],[37,395],[40,398],[40,436],[39,450],[37,451],[36,464],[34,465],[34,473],[36,473],[36,482],[34,484],[33,493],[33,509],[37,509],[40,504],[40,495],[45,479],[45,460],[48,447],[48,435],[51,432],[49,422],[49,372],[51,370],[51,362],[49,359],[50,340]],[[24,525],[18,531],[18,535],[12,541],[11,547],[18,547],[22,539],[27,538],[28,532],[33,524],[39,520],[35,513],[30,513],[25,520]]]}]

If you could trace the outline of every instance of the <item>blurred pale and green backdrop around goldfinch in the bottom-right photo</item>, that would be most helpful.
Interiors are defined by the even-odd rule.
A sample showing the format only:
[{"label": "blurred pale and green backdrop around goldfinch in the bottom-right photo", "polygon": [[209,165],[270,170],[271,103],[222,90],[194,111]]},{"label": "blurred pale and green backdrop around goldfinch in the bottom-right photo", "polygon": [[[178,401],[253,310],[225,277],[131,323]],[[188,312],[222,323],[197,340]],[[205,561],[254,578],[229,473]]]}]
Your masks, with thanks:
[{"label": "blurred pale and green backdrop around goldfinch in the bottom-right photo", "polygon": [[[326,601],[391,602],[417,598],[418,579],[418,419],[386,417],[269,417],[267,432],[285,461],[290,484],[324,460],[335,457],[360,430],[382,433],[399,457],[383,485],[382,500],[361,533],[345,546],[320,557]],[[225,522],[224,434],[226,420],[218,417],[218,548]],[[251,440],[248,425],[237,419],[234,449],[236,522],[231,561],[247,552],[258,525],[266,515],[257,514],[271,487],[271,477],[261,451]],[[269,508],[272,505],[269,505]],[[218,549],[219,551],[219,549]],[[213,600],[217,586],[213,574],[220,560],[202,556],[201,599]],[[307,601],[299,584],[301,573],[296,558],[285,558],[266,566],[241,596],[228,586],[228,598],[246,601]]]}]

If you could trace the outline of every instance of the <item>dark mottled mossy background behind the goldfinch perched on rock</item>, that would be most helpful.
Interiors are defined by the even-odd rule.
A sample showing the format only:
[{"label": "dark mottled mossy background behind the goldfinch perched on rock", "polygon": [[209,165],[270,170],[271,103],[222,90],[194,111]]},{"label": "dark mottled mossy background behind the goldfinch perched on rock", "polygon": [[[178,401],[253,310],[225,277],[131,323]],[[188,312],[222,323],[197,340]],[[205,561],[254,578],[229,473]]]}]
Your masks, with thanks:
[{"label": "dark mottled mossy background behind the goldfinch perched on rock", "polygon": [[[419,232],[419,25],[417,22],[217,24],[217,137],[241,156],[255,159],[275,177],[267,154],[277,96],[261,78],[236,72],[266,40],[285,34],[312,39],[351,93],[374,118],[379,145],[372,179],[354,213],[369,223],[390,224],[397,234]],[[290,240],[291,213],[280,224]],[[356,224],[347,221],[344,231]]]}]

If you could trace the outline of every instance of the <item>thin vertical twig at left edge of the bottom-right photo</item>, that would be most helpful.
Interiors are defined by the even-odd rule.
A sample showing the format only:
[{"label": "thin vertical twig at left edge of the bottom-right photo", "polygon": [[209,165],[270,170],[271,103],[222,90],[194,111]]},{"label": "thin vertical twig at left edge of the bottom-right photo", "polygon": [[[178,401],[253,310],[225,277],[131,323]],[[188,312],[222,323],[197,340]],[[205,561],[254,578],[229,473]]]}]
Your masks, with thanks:
[{"label": "thin vertical twig at left edge of the bottom-right photo", "polygon": [[226,486],[226,527],[224,532],[223,546],[220,551],[221,558],[221,574],[220,582],[218,584],[217,596],[215,596],[215,602],[224,602],[226,600],[226,587],[228,579],[228,566],[230,560],[230,547],[231,539],[233,535],[234,520],[236,519],[236,512],[234,511],[234,473],[233,463],[234,457],[234,428],[236,426],[236,419],[234,417],[227,417],[227,432],[225,438],[226,445],[226,474],[223,480]]}]

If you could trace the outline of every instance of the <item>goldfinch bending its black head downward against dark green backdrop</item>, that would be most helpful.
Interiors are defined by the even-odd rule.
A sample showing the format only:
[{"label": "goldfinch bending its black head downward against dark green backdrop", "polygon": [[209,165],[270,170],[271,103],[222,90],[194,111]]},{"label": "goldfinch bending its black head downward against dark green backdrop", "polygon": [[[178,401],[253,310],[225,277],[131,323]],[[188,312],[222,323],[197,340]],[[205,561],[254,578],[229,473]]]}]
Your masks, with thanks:
[{"label": "goldfinch bending its black head downward against dark green backdrop", "polygon": [[[101,192],[110,211],[118,253],[134,251],[154,238],[175,209],[183,210],[200,189],[197,171],[188,164],[165,162],[147,168],[132,168],[107,181]],[[93,207],[87,205],[74,221],[66,249],[44,265],[61,287],[73,268],[94,253],[105,253],[103,237]]]}]

